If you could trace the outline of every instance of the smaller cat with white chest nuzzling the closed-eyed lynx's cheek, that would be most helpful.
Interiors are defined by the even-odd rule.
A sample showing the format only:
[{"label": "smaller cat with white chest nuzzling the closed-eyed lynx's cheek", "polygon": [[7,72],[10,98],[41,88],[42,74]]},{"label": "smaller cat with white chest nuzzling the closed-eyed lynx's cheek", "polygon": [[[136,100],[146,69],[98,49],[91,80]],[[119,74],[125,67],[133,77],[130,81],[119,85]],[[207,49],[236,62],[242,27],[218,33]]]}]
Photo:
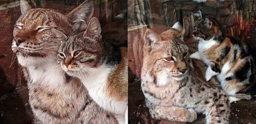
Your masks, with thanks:
[{"label": "smaller cat with white chest nuzzling the closed-eyed lynx's cheek", "polygon": [[106,47],[97,18],[85,32],[62,42],[58,63],[68,75],[81,79],[100,107],[114,113],[119,123],[128,123],[127,48]]}]

